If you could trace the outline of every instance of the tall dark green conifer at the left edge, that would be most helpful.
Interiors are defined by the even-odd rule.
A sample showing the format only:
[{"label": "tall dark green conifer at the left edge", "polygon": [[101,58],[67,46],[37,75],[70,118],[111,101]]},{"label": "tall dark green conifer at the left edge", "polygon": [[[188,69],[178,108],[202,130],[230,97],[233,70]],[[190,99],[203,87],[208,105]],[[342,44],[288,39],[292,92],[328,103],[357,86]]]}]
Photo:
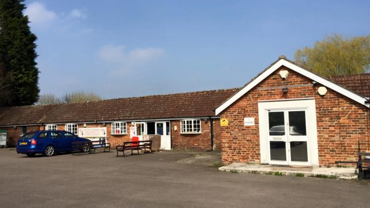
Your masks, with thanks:
[{"label": "tall dark green conifer at the left edge", "polygon": [[7,106],[32,105],[39,99],[36,36],[30,31],[23,0],[0,0],[0,58],[8,76]]}]

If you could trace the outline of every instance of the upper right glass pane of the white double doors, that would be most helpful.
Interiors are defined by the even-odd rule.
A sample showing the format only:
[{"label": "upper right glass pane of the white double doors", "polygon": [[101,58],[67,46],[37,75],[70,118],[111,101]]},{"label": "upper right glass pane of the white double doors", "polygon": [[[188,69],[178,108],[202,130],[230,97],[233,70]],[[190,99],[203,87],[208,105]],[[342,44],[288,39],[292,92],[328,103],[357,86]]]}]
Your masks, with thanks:
[{"label": "upper right glass pane of the white double doors", "polygon": [[290,111],[289,114],[289,134],[293,136],[306,134],[306,112]]}]

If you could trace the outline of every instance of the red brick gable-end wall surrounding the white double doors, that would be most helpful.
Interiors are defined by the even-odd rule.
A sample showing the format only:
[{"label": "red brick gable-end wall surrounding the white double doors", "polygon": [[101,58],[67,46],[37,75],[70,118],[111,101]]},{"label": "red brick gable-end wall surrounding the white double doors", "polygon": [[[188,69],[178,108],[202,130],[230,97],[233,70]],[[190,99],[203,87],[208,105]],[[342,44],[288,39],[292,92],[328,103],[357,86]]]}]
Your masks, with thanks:
[{"label": "red brick gable-end wall surrounding the white double doors", "polygon": [[[289,71],[284,81],[278,75],[283,69]],[[369,110],[328,88],[326,95],[318,95],[317,89],[321,85],[289,88],[311,83],[312,80],[282,66],[222,112],[221,118],[229,120],[229,126],[220,127],[223,163],[260,162],[258,100],[307,97],[314,97],[316,102],[319,164],[334,165],[336,160],[356,160],[358,140],[369,144]],[[281,88],[261,89],[282,86],[288,87],[286,94]],[[244,117],[254,117],[255,125],[244,126]],[[369,146],[362,145],[362,150],[368,151]]]}]

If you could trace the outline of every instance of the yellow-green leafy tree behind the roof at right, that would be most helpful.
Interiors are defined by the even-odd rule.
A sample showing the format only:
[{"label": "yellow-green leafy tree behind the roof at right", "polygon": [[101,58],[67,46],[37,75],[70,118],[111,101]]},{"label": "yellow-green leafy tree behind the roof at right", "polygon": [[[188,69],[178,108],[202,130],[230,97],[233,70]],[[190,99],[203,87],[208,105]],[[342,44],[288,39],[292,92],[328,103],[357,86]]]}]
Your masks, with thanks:
[{"label": "yellow-green leafy tree behind the roof at right", "polygon": [[298,49],[295,62],[324,77],[364,73],[370,68],[370,35],[325,37],[313,48]]}]

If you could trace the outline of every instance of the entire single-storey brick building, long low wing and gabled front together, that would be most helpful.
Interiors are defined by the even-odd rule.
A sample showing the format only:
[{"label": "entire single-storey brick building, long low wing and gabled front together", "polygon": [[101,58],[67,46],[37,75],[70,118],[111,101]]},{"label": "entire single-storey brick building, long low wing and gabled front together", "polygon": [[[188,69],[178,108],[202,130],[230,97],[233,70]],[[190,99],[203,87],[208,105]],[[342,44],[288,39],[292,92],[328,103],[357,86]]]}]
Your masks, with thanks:
[{"label": "entire single-storey brick building, long low wing and gabled front together", "polygon": [[113,146],[161,134],[165,150],[221,150],[224,164],[332,165],[370,150],[370,74],[322,78],[280,57],[241,88],[0,109],[15,146],[31,130],[106,127]]}]

